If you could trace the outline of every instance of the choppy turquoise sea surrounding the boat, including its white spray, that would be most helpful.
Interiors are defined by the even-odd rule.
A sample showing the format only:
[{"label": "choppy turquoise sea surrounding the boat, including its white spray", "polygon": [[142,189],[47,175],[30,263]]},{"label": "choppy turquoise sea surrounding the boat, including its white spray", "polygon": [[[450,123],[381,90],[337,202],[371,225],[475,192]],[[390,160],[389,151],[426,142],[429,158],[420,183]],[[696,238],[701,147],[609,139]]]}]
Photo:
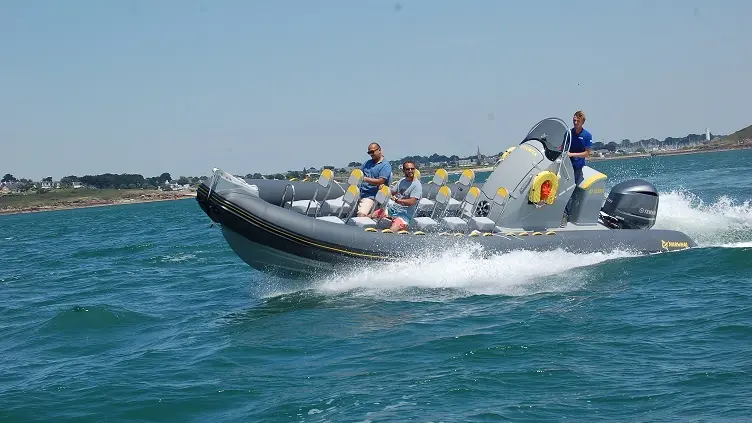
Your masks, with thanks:
[{"label": "choppy turquoise sea surrounding the boat, including its white spray", "polygon": [[446,251],[295,288],[194,200],[0,216],[0,421],[744,421],[751,159],[593,165],[653,181],[698,249]]}]

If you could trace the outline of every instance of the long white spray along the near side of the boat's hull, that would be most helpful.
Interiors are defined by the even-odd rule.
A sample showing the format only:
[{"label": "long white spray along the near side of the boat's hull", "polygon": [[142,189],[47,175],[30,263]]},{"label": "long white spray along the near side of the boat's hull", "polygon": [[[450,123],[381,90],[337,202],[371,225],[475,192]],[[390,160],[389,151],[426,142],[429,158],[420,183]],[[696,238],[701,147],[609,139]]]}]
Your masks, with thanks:
[{"label": "long white spray along the near side of the boat's hull", "polygon": [[[358,290],[365,295],[389,292],[390,298],[394,298],[395,292],[409,297],[408,288],[449,288],[454,292],[450,296],[531,295],[579,289],[587,278],[582,275],[567,277],[568,273],[606,260],[631,256],[622,251],[573,254],[562,250],[520,250],[481,258],[479,248],[456,248],[432,257],[339,271],[318,281],[316,289],[326,293]],[[548,278],[554,275],[560,277]],[[547,279],[547,282],[538,283],[541,279]],[[406,299],[405,295],[396,296],[400,300]],[[417,297],[426,300],[423,295]]]}]

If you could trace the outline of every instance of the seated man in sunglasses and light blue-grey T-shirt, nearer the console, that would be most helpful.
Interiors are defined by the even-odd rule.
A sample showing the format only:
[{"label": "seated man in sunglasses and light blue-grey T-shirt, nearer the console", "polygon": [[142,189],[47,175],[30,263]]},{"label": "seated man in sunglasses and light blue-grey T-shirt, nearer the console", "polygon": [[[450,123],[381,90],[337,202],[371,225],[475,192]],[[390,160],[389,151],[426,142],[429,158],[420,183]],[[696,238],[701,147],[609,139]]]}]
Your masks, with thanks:
[{"label": "seated man in sunglasses and light blue-grey T-shirt, nearer the console", "polygon": [[389,229],[397,232],[407,229],[410,216],[415,214],[418,201],[423,196],[423,185],[420,179],[415,177],[415,163],[406,161],[402,163],[402,172],[405,177],[400,179],[397,188],[392,190],[392,197],[386,212],[383,209],[376,210],[372,217],[375,219],[387,218],[392,220]]}]

